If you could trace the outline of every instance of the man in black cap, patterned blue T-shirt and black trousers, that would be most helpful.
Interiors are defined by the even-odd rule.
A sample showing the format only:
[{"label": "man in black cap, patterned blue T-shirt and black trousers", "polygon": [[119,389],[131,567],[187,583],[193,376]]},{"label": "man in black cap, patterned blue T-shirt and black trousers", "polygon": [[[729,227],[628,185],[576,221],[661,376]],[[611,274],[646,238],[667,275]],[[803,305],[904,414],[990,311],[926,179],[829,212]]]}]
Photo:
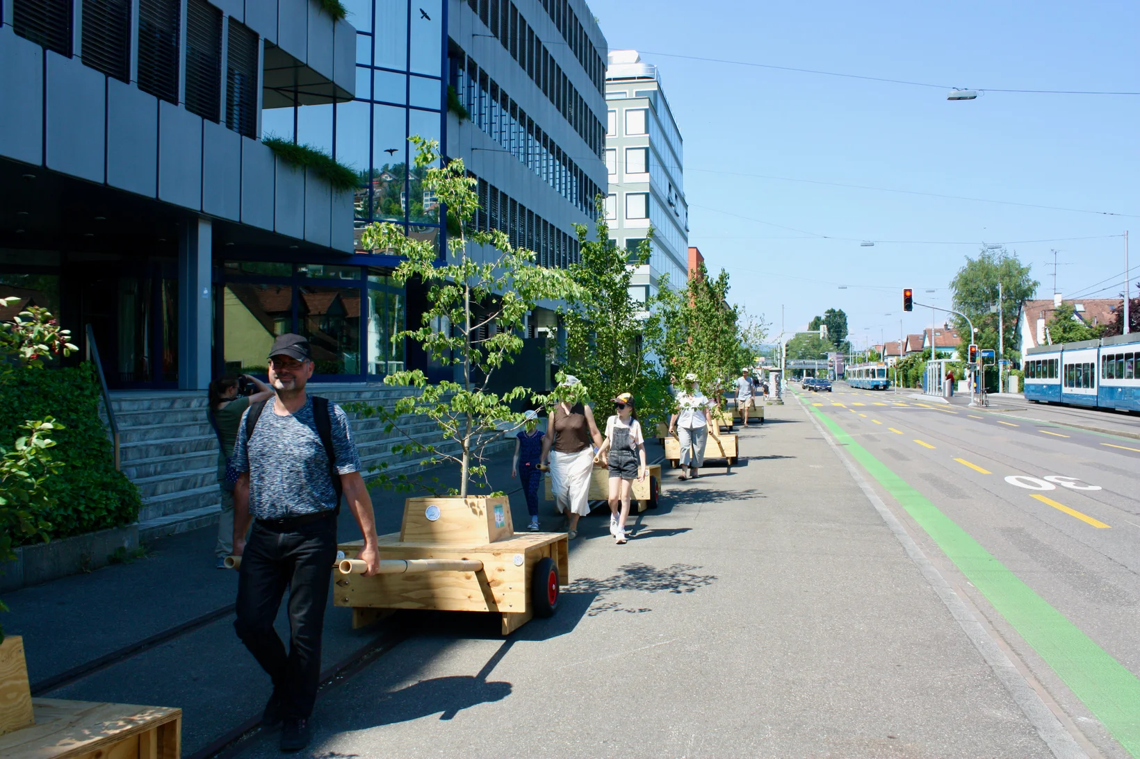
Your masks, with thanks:
[{"label": "man in black cap, patterned blue T-shirt and black trousers", "polygon": [[[272,680],[261,724],[282,725],[283,751],[311,738],[320,684],[320,636],[336,561],[336,515],[343,492],[364,546],[365,577],[376,573],[376,522],[360,476],[348,417],[328,399],[306,393],[312,376],[309,341],[280,335],[269,350],[272,401],[242,415],[234,459],[234,555],[242,557],[234,628]],[[256,522],[246,540],[250,519]],[[290,648],[274,630],[288,588]]]}]

